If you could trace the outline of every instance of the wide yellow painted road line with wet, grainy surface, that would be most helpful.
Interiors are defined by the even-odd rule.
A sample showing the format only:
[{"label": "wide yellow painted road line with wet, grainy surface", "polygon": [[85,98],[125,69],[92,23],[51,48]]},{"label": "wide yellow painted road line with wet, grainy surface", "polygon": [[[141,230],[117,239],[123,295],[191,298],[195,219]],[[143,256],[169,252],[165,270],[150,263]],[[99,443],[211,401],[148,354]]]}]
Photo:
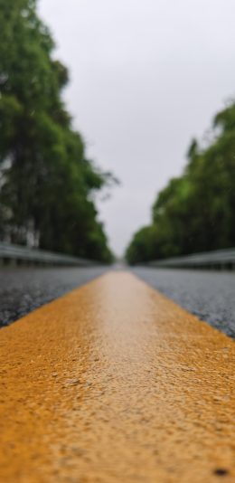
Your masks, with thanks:
[{"label": "wide yellow painted road line with wet, grainy surface", "polygon": [[0,331],[1,483],[235,481],[235,347],[126,272]]}]

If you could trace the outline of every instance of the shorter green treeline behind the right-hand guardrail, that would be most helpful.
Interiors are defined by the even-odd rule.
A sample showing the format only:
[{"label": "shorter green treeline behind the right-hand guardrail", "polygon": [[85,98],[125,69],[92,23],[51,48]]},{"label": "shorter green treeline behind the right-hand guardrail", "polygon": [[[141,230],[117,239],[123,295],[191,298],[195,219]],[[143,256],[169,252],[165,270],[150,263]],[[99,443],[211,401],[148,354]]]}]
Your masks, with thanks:
[{"label": "shorter green treeline behind the right-hand guardrail", "polygon": [[183,175],[158,194],[152,220],[130,242],[130,264],[235,246],[235,103],[213,119],[207,147],[193,140]]}]

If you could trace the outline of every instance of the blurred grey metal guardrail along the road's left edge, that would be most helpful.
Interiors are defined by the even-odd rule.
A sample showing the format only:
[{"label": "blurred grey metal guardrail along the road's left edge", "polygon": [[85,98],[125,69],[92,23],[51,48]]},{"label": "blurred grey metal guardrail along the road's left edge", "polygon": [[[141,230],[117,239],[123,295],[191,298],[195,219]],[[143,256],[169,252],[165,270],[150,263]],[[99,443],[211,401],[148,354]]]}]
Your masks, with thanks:
[{"label": "blurred grey metal guardrail along the road's left edge", "polygon": [[0,262],[17,264],[35,264],[35,265],[58,265],[58,266],[89,266],[95,262],[90,260],[62,255],[61,253],[53,253],[51,251],[43,251],[28,248],[20,245],[0,242]]}]

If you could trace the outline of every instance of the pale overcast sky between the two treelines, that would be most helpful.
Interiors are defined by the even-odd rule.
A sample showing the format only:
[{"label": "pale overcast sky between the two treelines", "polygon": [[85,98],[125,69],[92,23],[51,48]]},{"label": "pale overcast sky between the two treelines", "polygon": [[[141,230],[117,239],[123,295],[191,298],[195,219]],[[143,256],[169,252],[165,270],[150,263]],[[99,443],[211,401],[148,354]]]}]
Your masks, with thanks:
[{"label": "pale overcast sky between the two treelines", "polygon": [[98,200],[120,256],[235,94],[234,0],[41,0],[89,158],[121,182]]}]

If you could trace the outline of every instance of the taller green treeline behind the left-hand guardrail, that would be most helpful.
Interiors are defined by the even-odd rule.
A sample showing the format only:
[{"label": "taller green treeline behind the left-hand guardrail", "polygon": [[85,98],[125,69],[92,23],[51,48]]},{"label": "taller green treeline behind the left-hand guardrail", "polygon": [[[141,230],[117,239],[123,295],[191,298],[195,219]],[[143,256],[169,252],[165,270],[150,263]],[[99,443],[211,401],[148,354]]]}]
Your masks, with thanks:
[{"label": "taller green treeline behind the left-hand guardrail", "polygon": [[68,71],[35,0],[0,0],[0,239],[108,262],[87,159],[61,99]]}]

